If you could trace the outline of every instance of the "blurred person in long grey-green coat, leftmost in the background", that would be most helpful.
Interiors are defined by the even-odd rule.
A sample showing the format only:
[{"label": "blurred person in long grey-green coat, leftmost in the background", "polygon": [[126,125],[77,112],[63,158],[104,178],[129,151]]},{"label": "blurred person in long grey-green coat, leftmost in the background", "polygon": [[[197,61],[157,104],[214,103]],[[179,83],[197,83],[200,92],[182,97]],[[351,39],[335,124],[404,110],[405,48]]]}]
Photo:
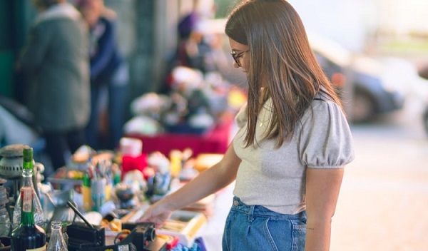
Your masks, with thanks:
[{"label": "blurred person in long grey-green coat, leftmost in the background", "polygon": [[56,170],[86,144],[89,67],[88,29],[66,0],[33,0],[38,10],[16,63],[26,78],[26,106],[46,140]]}]

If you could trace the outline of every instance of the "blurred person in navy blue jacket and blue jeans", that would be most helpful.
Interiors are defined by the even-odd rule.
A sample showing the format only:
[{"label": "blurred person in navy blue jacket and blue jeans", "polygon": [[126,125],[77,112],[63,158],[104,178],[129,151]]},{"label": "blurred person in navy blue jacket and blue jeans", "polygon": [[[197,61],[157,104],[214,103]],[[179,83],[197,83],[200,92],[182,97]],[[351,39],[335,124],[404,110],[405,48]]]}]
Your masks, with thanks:
[{"label": "blurred person in navy blue jacket and blue jeans", "polygon": [[[86,128],[92,148],[115,149],[123,134],[128,91],[128,64],[116,41],[116,13],[103,0],[75,0],[90,27],[91,118]],[[107,97],[107,129],[101,130],[103,93]]]}]

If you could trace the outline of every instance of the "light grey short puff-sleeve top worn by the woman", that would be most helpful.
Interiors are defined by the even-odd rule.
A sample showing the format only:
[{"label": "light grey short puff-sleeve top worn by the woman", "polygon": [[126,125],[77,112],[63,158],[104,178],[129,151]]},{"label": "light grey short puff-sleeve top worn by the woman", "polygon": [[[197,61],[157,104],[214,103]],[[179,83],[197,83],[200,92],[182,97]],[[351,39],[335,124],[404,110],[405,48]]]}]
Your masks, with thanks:
[{"label": "light grey short puff-sleeve top worn by the woman", "polygon": [[291,140],[280,148],[275,148],[275,139],[263,139],[272,114],[270,99],[258,116],[258,144],[244,147],[245,109],[236,116],[239,130],[233,140],[235,153],[242,160],[233,194],[243,203],[285,214],[301,212],[306,208],[306,168],[343,168],[354,159],[347,119],[332,101],[312,101]]}]

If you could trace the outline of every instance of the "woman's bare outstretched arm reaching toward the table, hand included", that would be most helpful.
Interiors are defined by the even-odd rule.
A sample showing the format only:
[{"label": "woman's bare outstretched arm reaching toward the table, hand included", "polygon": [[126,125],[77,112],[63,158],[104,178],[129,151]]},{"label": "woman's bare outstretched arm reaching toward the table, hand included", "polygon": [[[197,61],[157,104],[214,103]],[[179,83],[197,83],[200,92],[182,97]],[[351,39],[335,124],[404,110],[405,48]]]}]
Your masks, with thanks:
[{"label": "woman's bare outstretched arm reaching toward the table, hand included", "polygon": [[219,163],[205,170],[174,193],[153,204],[138,221],[153,222],[157,228],[161,227],[165,220],[168,220],[173,210],[195,203],[232,183],[236,178],[239,164],[240,158],[236,155],[231,144]]}]

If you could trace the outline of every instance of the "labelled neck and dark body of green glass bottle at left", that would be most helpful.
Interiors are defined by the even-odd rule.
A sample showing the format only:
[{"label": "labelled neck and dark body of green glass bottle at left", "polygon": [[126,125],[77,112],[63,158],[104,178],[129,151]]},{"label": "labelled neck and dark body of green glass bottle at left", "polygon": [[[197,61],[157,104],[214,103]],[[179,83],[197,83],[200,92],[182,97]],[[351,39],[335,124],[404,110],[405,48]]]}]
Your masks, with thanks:
[{"label": "labelled neck and dark body of green glass bottle at left", "polygon": [[21,188],[21,224],[12,231],[12,251],[46,250],[46,233],[34,223],[33,196],[33,189]]}]

